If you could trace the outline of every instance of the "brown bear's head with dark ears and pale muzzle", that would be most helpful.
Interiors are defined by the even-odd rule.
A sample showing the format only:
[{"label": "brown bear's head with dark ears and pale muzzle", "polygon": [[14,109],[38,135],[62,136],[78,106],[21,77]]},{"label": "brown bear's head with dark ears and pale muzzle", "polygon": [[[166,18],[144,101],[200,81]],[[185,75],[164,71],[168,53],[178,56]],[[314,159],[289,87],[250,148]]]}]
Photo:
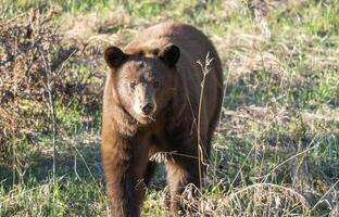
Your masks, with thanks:
[{"label": "brown bear's head with dark ears and pale muzzle", "polygon": [[156,120],[173,99],[179,56],[180,50],[173,43],[125,52],[117,47],[105,50],[104,59],[111,68],[117,100],[139,124]]}]

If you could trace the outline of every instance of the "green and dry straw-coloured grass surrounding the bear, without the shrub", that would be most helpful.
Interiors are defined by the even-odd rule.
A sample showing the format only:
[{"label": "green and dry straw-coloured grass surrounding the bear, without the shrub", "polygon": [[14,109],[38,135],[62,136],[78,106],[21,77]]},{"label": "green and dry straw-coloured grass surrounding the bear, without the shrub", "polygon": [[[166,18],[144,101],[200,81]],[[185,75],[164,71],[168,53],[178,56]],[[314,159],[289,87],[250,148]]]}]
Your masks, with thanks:
[{"label": "green and dry straw-coloured grass surrounding the bear, without the shrub", "polygon": [[[226,92],[209,173],[199,196],[186,201],[188,207],[196,216],[339,215],[337,0],[21,0],[2,5],[4,20],[33,7],[55,8],[53,22],[64,43],[89,41],[99,53],[109,43],[126,44],[139,29],[162,21],[202,29],[223,60]],[[105,67],[99,56],[65,71],[84,79],[100,71],[97,81],[102,82]],[[7,138],[15,144],[9,150],[15,164],[0,162],[0,216],[104,215],[100,104],[92,111],[81,106],[77,99],[67,105],[56,101],[55,179],[51,136],[43,133],[49,123],[39,123],[33,142]],[[164,188],[162,165],[148,190],[143,216],[164,215]]]}]

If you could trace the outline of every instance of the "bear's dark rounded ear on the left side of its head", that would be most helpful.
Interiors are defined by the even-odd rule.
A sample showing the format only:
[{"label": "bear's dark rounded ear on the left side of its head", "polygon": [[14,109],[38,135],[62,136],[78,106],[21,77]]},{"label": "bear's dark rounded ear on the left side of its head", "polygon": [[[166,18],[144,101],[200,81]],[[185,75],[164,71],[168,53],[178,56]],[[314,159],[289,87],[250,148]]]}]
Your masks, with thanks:
[{"label": "bear's dark rounded ear on the left side of its head", "polygon": [[104,60],[111,68],[120,67],[127,60],[127,54],[114,46],[106,48],[104,51]]}]

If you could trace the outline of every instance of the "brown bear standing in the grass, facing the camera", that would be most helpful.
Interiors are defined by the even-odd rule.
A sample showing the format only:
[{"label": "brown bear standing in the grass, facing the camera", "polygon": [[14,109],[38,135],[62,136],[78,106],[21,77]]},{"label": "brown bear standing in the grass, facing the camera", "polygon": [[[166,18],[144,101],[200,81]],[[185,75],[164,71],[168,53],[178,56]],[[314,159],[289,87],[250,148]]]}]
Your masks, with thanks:
[{"label": "brown bear standing in the grass, facing the camera", "polygon": [[[205,69],[197,63],[210,56]],[[200,187],[223,102],[223,68],[211,40],[191,25],[146,28],[126,47],[104,51],[101,154],[109,216],[138,217],[165,153],[168,216],[185,212],[180,194]]]}]

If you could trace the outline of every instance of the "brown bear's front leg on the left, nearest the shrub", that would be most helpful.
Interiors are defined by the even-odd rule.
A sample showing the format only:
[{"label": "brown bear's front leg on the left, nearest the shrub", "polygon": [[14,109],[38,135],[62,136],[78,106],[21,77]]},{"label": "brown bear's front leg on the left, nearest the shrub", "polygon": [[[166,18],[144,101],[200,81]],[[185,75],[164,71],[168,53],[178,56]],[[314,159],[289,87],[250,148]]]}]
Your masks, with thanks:
[{"label": "brown bear's front leg on the left, nearest the shrub", "polygon": [[148,148],[140,138],[110,136],[102,141],[110,217],[139,217]]}]

